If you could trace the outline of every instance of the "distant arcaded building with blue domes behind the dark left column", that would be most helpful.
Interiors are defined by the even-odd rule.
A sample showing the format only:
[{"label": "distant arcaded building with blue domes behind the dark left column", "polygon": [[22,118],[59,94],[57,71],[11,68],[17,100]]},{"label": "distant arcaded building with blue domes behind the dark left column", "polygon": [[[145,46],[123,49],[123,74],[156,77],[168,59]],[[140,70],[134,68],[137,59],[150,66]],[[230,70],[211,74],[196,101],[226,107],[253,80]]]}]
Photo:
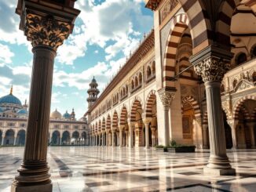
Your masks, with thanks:
[{"label": "distant arcaded building with blue domes behind the dark left column", "polygon": [[[28,116],[27,101],[24,105],[13,96],[0,98],[0,144],[24,146]],[[86,118],[76,120],[75,111],[60,114],[54,110],[49,121],[49,145],[88,145],[89,129]]]}]

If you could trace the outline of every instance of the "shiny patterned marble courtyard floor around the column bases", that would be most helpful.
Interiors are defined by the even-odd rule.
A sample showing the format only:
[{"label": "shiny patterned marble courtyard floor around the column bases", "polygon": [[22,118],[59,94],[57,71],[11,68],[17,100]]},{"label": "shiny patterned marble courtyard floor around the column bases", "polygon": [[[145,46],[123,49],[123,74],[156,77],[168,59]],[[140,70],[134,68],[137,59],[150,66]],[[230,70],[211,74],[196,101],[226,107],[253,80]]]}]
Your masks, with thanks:
[{"label": "shiny patterned marble courtyard floor around the column bases", "polygon": [[[24,147],[0,148],[0,191],[9,191]],[[236,176],[205,176],[209,151],[49,147],[53,191],[256,191],[256,150],[228,151]]]}]

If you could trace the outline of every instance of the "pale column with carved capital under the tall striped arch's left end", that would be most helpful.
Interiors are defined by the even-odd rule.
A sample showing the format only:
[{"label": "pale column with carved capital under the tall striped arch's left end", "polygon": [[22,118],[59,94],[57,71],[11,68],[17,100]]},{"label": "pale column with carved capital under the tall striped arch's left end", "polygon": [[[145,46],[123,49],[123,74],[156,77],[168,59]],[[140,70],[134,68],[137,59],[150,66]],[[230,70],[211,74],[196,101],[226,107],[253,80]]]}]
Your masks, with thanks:
[{"label": "pale column with carved capital under the tall striped arch's left end", "polygon": [[[175,97],[175,92],[169,91],[167,89],[160,89],[159,96],[163,103],[163,121],[164,121],[164,130],[161,132],[159,129],[159,144],[168,146],[170,145],[170,106]],[[159,111],[158,113],[161,113]]]}]

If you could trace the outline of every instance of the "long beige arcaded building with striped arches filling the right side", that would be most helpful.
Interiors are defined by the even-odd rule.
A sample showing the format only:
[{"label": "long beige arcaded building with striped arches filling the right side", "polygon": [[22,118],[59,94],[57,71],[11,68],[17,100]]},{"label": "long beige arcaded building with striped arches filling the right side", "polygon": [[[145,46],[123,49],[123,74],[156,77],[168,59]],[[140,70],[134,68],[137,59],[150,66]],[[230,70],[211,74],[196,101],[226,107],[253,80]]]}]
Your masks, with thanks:
[{"label": "long beige arcaded building with striped arches filling the right side", "polygon": [[[145,2],[154,11],[154,29],[89,105],[90,145],[151,147],[175,141],[209,148],[224,139],[214,131],[218,121],[226,148],[254,148],[254,1],[223,1],[216,5],[222,15],[214,20],[204,17],[209,7],[201,8],[199,1]],[[215,27],[212,34],[209,26]]]}]

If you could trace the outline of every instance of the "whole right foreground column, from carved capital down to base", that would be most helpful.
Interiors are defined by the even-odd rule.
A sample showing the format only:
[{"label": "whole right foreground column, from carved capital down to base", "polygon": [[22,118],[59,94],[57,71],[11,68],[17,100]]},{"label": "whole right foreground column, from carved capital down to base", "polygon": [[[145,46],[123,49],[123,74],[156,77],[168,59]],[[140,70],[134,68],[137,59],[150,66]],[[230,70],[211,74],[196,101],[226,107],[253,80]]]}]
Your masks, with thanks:
[{"label": "whole right foreground column, from carved capital down to base", "polygon": [[221,80],[229,70],[231,53],[210,46],[192,58],[196,74],[201,75],[207,93],[207,113],[210,136],[210,159],[203,169],[205,174],[221,176],[234,175],[226,154],[225,130],[221,108]]}]

